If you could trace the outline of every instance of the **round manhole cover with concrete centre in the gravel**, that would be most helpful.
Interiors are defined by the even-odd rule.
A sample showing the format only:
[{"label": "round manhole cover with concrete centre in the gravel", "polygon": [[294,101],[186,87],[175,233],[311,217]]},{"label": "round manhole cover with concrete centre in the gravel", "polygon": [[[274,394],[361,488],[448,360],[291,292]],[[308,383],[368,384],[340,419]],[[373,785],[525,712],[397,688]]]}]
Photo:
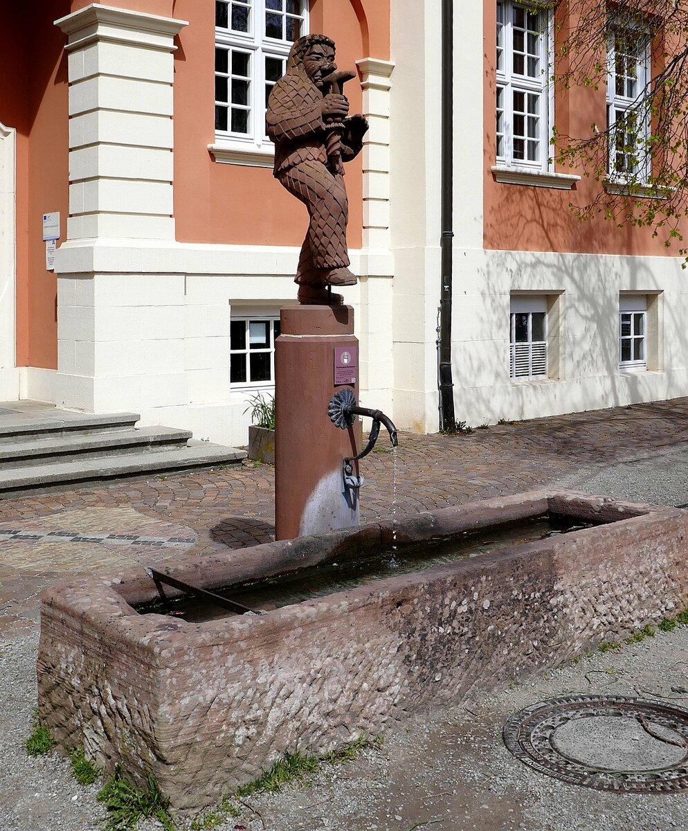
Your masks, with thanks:
[{"label": "round manhole cover with concrete centre in the gravel", "polygon": [[514,713],[504,744],[526,765],[587,788],[688,789],[688,711],[636,698],[564,696]]}]

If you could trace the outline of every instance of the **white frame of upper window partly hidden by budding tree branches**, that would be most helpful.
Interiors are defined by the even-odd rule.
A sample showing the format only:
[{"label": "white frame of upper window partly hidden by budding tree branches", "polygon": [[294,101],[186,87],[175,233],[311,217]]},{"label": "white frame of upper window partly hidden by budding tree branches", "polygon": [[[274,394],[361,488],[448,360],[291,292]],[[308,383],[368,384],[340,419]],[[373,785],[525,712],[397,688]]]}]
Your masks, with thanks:
[{"label": "white frame of upper window partly hidden by budding tree branches", "polygon": [[[627,84],[624,84],[623,94],[617,91],[617,38],[623,37],[627,32],[633,32],[633,39],[641,37],[644,40],[635,60],[627,66],[632,74],[625,74],[623,77],[635,81],[635,89],[629,93]],[[643,34],[645,37],[643,38]],[[635,77],[634,77],[635,76]],[[612,32],[607,42],[607,130],[609,135],[608,154],[608,179],[612,183],[625,184],[629,181],[638,184],[646,184],[651,174],[650,159],[650,113],[646,107],[647,90],[651,80],[651,52],[649,33],[641,30],[626,28],[617,29]],[[635,92],[635,94],[633,94]],[[617,122],[623,118],[631,117],[633,114],[642,119],[637,135],[635,165],[632,170],[617,170]],[[624,157],[633,159],[633,151],[622,154]]]}]

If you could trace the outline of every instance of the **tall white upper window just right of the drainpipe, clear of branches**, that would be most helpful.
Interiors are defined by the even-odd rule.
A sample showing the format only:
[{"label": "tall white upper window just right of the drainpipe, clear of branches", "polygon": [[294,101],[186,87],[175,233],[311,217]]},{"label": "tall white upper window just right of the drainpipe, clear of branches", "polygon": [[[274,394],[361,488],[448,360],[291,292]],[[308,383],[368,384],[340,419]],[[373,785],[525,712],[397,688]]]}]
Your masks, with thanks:
[{"label": "tall white upper window just right of the drainpipe, clear of branches", "polygon": [[497,3],[497,165],[549,170],[550,14]]}]

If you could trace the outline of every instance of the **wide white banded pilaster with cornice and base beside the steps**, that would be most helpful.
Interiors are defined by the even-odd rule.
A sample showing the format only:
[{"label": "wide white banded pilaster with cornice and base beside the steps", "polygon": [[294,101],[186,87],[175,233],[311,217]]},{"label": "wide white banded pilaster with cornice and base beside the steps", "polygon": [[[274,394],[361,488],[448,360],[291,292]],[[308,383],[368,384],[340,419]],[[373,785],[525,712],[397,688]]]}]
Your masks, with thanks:
[{"label": "wide white banded pilaster with cornice and base beside the steps", "polygon": [[186,22],[94,3],[56,25],[68,38],[70,217],[55,402],[184,406],[184,275],[155,273],[143,252],[175,244],[173,52]]}]

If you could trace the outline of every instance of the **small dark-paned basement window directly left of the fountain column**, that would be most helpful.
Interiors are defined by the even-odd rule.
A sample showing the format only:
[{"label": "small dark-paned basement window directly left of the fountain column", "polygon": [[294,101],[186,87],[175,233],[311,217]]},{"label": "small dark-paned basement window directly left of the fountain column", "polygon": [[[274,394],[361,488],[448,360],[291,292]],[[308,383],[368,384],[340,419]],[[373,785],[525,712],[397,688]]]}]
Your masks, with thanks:
[{"label": "small dark-paned basement window directly left of the fountain column", "polygon": [[274,386],[279,317],[232,317],[229,323],[230,386]]}]

